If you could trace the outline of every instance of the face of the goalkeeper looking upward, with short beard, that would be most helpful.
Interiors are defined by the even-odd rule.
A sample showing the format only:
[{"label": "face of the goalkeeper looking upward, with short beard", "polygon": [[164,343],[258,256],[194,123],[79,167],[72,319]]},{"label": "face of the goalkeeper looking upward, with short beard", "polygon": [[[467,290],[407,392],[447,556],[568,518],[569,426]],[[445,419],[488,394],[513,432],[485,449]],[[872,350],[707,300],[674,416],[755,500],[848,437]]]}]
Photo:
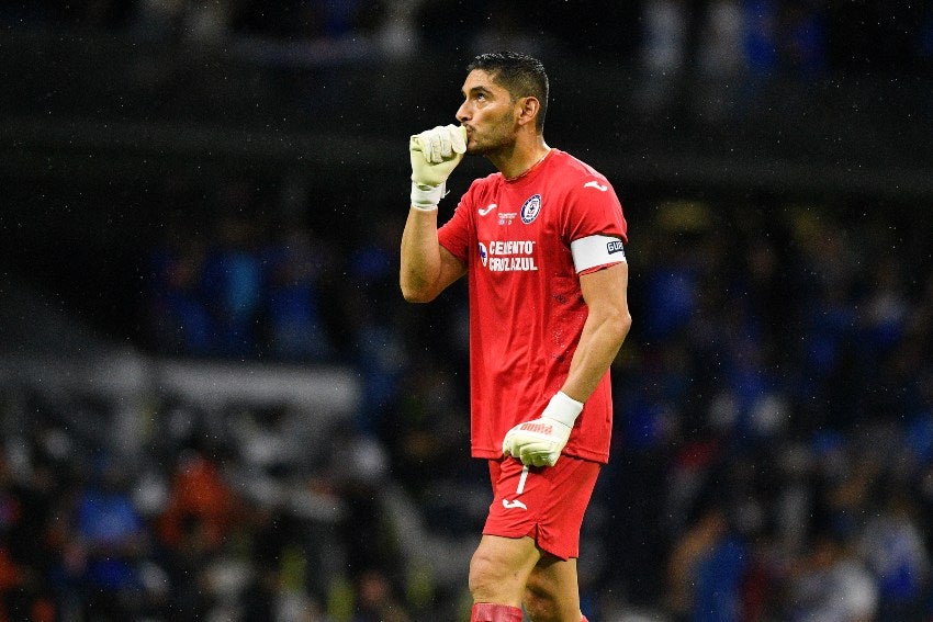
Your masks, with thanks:
[{"label": "face of the goalkeeper looking upward, with short beard", "polygon": [[463,82],[457,120],[466,127],[466,152],[491,155],[510,147],[518,128],[519,106],[486,71],[474,69]]}]

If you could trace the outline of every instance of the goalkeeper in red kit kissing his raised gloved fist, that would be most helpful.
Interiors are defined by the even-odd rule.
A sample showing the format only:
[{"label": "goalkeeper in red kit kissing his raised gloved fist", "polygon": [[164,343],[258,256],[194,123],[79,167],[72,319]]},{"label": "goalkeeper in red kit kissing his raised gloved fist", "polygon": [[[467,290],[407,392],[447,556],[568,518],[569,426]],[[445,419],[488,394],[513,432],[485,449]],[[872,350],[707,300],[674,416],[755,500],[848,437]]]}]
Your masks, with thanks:
[{"label": "goalkeeper in red kit kissing his raised gloved fist", "polygon": [[[409,142],[400,281],[429,302],[469,273],[472,455],[494,499],[470,563],[472,621],[581,622],[580,529],[612,426],[609,366],[631,325],[627,225],[608,180],[544,143],[537,59],[466,68],[459,125]],[[438,228],[464,154],[497,169]]]}]

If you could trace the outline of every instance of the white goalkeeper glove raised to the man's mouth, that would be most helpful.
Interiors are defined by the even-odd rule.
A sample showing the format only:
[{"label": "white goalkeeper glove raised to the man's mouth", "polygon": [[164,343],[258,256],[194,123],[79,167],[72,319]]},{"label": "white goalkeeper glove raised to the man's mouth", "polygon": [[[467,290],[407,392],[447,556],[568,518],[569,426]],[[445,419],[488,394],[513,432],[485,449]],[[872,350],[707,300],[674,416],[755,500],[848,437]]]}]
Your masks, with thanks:
[{"label": "white goalkeeper glove raised to the man's mouth", "polygon": [[408,142],[412,158],[412,206],[431,211],[443,199],[447,178],[466,152],[466,128],[438,125]]}]

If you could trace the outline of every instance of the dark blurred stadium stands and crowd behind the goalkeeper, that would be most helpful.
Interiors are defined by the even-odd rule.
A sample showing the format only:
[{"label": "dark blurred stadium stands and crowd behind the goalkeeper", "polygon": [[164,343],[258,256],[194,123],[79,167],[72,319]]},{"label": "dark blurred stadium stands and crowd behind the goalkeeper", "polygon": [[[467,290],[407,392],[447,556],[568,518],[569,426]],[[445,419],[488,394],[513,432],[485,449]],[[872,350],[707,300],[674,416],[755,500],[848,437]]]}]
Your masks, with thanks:
[{"label": "dark blurred stadium stands and crowd behind the goalkeeper", "polygon": [[930,620],[933,5],[266,4],[0,3],[5,619],[463,619],[405,147],[512,47],[631,227],[589,620]]}]

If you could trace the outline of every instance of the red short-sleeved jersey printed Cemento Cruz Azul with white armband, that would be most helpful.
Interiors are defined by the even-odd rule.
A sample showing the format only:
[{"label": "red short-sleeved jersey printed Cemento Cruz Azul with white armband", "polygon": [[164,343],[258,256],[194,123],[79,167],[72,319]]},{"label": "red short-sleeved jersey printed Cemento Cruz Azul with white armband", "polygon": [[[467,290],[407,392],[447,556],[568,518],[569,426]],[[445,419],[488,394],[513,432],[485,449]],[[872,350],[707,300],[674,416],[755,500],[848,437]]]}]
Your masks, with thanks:
[{"label": "red short-sleeved jersey printed Cemento Cruz Azul with white armband", "polygon": [[[563,386],[587,316],[580,274],[625,261],[626,236],[608,180],[558,149],[517,179],[475,180],[440,228],[468,267],[474,457],[501,456],[505,433]],[[605,463],[611,427],[607,372],[564,453]]]}]

